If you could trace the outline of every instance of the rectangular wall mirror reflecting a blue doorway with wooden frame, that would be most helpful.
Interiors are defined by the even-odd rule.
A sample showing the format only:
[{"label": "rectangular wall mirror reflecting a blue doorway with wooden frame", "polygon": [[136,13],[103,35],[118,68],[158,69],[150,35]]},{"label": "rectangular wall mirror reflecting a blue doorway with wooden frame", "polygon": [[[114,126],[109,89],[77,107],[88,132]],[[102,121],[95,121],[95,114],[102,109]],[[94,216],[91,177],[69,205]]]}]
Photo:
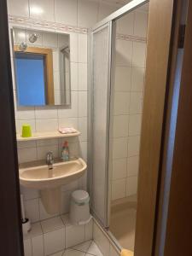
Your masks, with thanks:
[{"label": "rectangular wall mirror reflecting a blue doorway with wooden frame", "polygon": [[70,36],[14,28],[18,106],[69,105]]}]

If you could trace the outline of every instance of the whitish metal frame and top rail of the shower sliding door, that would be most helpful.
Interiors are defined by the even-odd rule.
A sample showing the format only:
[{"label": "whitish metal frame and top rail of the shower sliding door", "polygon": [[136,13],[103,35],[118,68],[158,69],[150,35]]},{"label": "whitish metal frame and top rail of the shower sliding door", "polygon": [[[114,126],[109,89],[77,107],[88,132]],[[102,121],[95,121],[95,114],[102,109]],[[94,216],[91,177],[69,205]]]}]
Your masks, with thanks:
[{"label": "whitish metal frame and top rail of the shower sliding door", "polygon": [[[110,166],[110,139],[109,139],[109,135],[110,135],[110,118],[111,118],[111,109],[112,109],[112,88],[113,88],[113,73],[115,70],[115,63],[114,63],[114,53],[115,53],[115,20],[118,20],[121,16],[126,15],[128,13],[130,13],[131,11],[133,11],[134,9],[137,9],[140,6],[143,6],[143,4],[148,3],[149,0],[133,0],[131,1],[131,3],[127,3],[125,6],[123,6],[122,8],[118,9],[117,11],[115,11],[113,14],[109,15],[107,18],[105,18],[104,20],[98,22],[96,24],[96,26],[93,26],[92,29],[90,29],[90,36],[88,37],[88,43],[90,44],[88,47],[88,84],[89,84],[89,100],[88,100],[88,106],[89,106],[89,110],[88,110],[88,116],[89,116],[89,121],[88,121],[88,137],[89,137],[89,144],[88,144],[88,166],[89,166],[89,176],[88,176],[88,190],[90,192],[90,199],[91,199],[91,185],[92,185],[92,172],[93,172],[93,159],[92,159],[92,155],[93,155],[93,76],[92,76],[92,72],[93,72],[93,61],[92,61],[92,56],[93,56],[93,52],[92,52],[92,44],[93,44],[93,33],[98,32],[100,30],[102,30],[103,27],[105,26],[109,26],[110,32],[109,32],[109,37],[110,37],[110,53],[109,53],[109,61],[108,61],[108,138],[106,140],[107,142],[107,146],[106,148],[108,149],[106,152],[106,155],[108,157],[108,164],[106,165],[106,173],[107,173],[107,177],[108,180],[106,180],[106,195],[107,196],[107,202],[106,202],[106,219],[104,221],[104,223],[97,218],[97,220],[99,221],[99,223],[102,225],[103,228],[108,230],[109,227],[109,222],[110,222],[110,207],[111,207],[111,193],[110,193],[110,189],[109,185],[110,185],[110,175],[111,172],[109,170],[109,166]],[[92,212],[92,214],[94,215],[94,217],[96,217],[94,211]],[[116,239],[114,238],[113,234],[108,230],[108,235],[111,236],[111,238],[113,239],[113,241],[115,242],[116,246],[119,247],[119,242],[116,241]]]}]

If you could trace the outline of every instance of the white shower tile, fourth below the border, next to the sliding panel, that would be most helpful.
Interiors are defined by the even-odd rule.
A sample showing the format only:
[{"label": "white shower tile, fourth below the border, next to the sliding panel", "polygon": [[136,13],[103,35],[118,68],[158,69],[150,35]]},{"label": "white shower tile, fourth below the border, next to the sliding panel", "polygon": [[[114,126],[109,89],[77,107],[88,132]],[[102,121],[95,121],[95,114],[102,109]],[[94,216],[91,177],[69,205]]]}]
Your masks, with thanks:
[{"label": "white shower tile, fourth below the border, next to the sliding panel", "polygon": [[113,137],[128,136],[129,115],[115,115],[113,117]]}]

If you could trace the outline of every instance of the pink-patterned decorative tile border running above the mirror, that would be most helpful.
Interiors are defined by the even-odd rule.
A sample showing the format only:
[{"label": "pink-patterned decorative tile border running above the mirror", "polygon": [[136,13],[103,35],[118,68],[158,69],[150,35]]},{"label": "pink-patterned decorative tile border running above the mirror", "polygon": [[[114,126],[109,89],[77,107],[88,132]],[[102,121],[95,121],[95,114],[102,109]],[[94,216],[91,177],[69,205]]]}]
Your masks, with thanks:
[{"label": "pink-patterned decorative tile border running above the mirror", "polygon": [[52,29],[61,32],[76,32],[86,34],[88,29],[86,27],[78,27],[78,26],[68,26],[58,22],[51,22],[46,20],[36,20],[32,18],[25,18],[19,16],[9,15],[9,23],[15,23],[18,25],[26,25],[26,26],[38,26],[43,29]]}]

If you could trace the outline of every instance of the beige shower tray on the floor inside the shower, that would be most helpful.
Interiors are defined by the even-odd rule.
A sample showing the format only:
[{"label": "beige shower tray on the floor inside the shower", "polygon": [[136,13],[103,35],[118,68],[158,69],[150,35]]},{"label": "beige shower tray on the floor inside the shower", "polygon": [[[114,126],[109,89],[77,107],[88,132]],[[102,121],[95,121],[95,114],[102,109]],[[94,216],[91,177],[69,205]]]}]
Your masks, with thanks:
[{"label": "beige shower tray on the floor inside the shower", "polygon": [[137,207],[133,203],[116,206],[111,213],[109,230],[121,247],[134,251]]}]

